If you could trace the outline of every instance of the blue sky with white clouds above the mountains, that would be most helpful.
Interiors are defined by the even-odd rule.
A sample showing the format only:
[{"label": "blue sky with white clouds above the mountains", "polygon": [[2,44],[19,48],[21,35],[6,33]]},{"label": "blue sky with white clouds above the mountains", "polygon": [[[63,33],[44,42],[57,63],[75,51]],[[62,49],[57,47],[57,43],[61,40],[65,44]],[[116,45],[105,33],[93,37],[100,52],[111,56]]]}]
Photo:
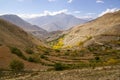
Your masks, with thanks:
[{"label": "blue sky with white clouds above the mountains", "polygon": [[120,0],[0,0],[0,14],[17,14],[23,18],[72,14],[95,18],[120,9]]}]

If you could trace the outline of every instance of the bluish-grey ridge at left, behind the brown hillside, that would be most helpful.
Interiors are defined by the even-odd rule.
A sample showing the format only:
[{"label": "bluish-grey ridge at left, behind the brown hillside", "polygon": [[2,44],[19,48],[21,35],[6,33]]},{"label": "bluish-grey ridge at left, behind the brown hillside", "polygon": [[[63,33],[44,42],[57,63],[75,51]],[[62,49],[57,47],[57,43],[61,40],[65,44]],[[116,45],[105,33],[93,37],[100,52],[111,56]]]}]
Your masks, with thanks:
[{"label": "bluish-grey ridge at left, behind the brown hillside", "polygon": [[18,27],[22,28],[23,30],[29,33],[32,33],[35,36],[38,33],[41,36],[47,34],[46,30],[24,21],[22,18],[18,17],[17,15],[2,15],[0,16],[0,18],[17,25]]}]

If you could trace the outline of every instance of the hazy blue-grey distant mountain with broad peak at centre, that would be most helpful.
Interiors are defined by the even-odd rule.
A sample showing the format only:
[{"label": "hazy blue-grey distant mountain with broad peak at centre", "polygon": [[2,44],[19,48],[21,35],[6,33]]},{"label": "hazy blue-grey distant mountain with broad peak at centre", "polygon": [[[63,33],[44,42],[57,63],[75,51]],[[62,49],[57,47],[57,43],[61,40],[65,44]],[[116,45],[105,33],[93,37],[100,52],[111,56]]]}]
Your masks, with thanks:
[{"label": "hazy blue-grey distant mountain with broad peak at centre", "polygon": [[72,15],[61,13],[54,16],[47,15],[31,18],[27,21],[51,32],[57,30],[66,30],[78,24],[83,24],[88,20],[79,19]]}]

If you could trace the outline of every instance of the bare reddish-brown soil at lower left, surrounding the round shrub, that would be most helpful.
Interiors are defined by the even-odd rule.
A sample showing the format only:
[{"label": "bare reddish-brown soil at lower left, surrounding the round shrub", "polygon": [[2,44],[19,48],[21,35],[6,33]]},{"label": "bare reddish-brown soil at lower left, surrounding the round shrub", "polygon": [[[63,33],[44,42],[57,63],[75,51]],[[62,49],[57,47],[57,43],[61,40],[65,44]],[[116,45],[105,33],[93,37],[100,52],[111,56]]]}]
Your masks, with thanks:
[{"label": "bare reddish-brown soil at lower left, surrounding the round shrub", "polygon": [[36,64],[36,63],[25,61],[25,60],[21,59],[20,57],[18,57],[17,55],[12,54],[8,47],[0,46],[0,68],[9,69],[9,64],[12,60],[22,61],[25,65],[26,70],[32,70],[32,69],[44,70],[44,69],[46,69],[46,67],[41,64]]}]

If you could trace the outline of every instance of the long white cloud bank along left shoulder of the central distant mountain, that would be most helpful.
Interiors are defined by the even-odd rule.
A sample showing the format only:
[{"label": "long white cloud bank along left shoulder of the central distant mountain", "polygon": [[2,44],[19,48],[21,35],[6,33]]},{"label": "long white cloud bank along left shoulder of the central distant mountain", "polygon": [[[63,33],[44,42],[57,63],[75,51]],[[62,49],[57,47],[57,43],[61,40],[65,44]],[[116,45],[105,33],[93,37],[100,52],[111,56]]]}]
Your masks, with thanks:
[{"label": "long white cloud bank along left shoulder of the central distant mountain", "polygon": [[68,11],[67,9],[54,11],[54,12],[45,10],[43,13],[40,13],[40,14],[17,14],[17,15],[22,18],[35,18],[35,17],[47,16],[47,15],[53,16],[53,15],[60,14],[60,13],[67,13],[67,11]]}]

